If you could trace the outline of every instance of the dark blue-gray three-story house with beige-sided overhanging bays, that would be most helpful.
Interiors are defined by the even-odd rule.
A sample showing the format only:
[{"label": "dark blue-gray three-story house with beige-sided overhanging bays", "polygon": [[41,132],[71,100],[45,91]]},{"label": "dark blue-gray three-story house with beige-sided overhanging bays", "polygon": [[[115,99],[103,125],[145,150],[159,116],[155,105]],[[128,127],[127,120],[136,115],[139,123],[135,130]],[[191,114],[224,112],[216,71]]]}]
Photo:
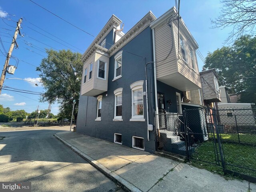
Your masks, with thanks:
[{"label": "dark blue-gray three-story house with beige-sided overhanging bays", "polygon": [[178,31],[174,7],[126,34],[121,23],[113,15],[82,56],[77,132],[154,152],[155,133],[172,124],[158,114],[178,118],[187,92],[201,88],[198,44],[182,19]]}]

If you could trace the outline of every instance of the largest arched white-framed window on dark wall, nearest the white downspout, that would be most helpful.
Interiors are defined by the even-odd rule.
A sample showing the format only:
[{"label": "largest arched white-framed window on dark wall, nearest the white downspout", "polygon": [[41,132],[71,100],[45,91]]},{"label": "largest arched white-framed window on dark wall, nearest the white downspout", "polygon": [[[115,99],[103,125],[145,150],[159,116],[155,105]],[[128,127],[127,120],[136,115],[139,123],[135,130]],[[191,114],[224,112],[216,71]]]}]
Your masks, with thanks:
[{"label": "largest arched white-framed window on dark wall, nearest the white downspout", "polygon": [[130,121],[145,121],[143,111],[143,82],[137,81],[130,85],[132,89],[132,118]]}]

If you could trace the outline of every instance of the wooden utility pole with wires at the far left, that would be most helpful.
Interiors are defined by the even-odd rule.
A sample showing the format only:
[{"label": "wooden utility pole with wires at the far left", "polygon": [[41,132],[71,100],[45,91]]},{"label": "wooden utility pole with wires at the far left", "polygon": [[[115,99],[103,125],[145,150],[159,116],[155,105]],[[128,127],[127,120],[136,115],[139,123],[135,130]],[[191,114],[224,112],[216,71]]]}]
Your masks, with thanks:
[{"label": "wooden utility pole with wires at the far left", "polygon": [[20,34],[20,24],[21,23],[22,23],[22,18],[20,18],[17,22],[17,27],[16,27],[16,30],[14,32],[14,36],[12,38],[12,44],[11,44],[10,49],[8,51],[8,54],[6,56],[6,60],[5,60],[5,63],[4,63],[4,68],[3,68],[2,75],[1,75],[1,78],[0,78],[0,94],[1,94],[1,91],[2,91],[2,87],[3,87],[3,84],[4,84],[4,78],[5,78],[5,75],[6,75],[7,68],[9,66],[9,61],[10,61],[10,58],[11,58],[11,55],[12,55],[14,45],[16,45],[18,47],[18,44],[16,42],[16,38],[17,38],[18,33]]}]

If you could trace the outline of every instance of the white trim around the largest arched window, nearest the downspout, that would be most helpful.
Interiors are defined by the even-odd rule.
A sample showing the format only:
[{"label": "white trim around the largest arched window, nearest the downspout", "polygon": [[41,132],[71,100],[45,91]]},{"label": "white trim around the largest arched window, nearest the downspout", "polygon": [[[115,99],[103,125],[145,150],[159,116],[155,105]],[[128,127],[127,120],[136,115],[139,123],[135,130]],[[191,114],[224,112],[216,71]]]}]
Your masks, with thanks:
[{"label": "white trim around the largest arched window, nearest the downspout", "polygon": [[[132,118],[130,119],[130,121],[145,121],[145,119],[144,119],[144,114],[145,114],[145,112],[144,112],[144,96],[143,96],[143,83],[144,83],[144,81],[136,81],[136,82],[134,82],[134,83],[132,83],[131,85],[130,85],[130,88],[131,88],[131,92],[132,92]],[[134,102],[134,100],[133,100],[133,92],[135,91],[135,90],[138,90],[138,89],[142,89],[142,103],[143,103],[143,115],[136,115],[136,116],[134,116],[134,109],[133,109],[133,102]]]}]

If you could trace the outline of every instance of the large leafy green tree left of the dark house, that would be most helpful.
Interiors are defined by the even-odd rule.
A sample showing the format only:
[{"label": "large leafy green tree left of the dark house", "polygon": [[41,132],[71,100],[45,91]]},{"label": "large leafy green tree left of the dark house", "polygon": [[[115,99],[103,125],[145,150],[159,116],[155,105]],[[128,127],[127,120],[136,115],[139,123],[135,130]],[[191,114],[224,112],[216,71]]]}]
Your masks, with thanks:
[{"label": "large leafy green tree left of the dark house", "polygon": [[76,105],[74,117],[76,119],[78,112],[78,100],[80,84],[83,71],[83,63],[80,53],[73,53],[70,50],[48,50],[47,58],[43,58],[39,67],[41,82],[46,90],[41,96],[41,102],[60,104],[60,113],[65,113],[71,117],[73,100]]}]

